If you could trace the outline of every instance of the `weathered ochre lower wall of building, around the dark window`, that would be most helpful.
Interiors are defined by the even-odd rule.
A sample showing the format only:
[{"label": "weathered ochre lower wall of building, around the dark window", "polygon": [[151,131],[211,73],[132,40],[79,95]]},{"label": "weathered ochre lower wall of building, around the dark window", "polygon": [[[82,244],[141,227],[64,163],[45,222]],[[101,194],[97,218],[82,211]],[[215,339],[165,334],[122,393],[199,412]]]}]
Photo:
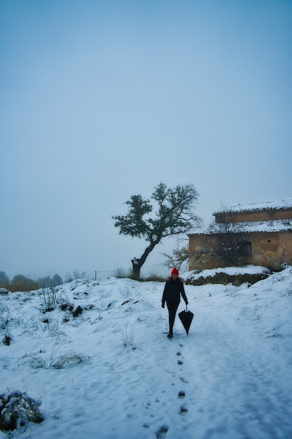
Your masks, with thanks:
[{"label": "weathered ochre lower wall of building, around the dark window", "polygon": [[[213,269],[224,266],[224,263],[209,255],[200,258],[199,261],[192,257],[193,252],[199,252],[202,248],[216,248],[220,235],[190,235],[189,251],[190,262],[189,269]],[[269,269],[277,270],[283,262],[292,265],[292,233],[274,232],[265,233],[257,232],[253,234],[244,234],[246,241],[251,243],[251,256],[241,257],[240,265],[253,264],[266,266]],[[239,236],[239,241],[241,236]]]}]

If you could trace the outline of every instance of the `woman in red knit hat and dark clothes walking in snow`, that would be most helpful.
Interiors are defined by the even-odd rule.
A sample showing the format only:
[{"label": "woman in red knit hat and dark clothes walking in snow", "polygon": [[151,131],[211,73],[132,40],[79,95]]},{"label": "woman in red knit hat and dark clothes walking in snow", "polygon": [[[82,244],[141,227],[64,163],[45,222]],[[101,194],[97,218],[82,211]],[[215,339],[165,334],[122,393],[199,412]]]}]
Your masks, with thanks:
[{"label": "woman in red knit hat and dark clothes walking in snow", "polygon": [[167,335],[169,339],[173,337],[174,320],[176,311],[179,308],[179,302],[181,302],[181,296],[187,305],[188,299],[186,298],[183,281],[179,278],[179,270],[174,268],[172,276],[165,282],[165,289],[162,295],[162,308],[165,307],[166,302],[169,313],[169,334]]}]

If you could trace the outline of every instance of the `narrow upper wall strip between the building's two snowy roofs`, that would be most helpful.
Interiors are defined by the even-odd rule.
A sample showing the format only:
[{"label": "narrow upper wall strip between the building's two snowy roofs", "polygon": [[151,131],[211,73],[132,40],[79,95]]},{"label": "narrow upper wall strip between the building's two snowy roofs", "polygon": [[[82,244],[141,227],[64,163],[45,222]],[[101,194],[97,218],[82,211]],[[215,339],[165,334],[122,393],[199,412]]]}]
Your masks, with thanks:
[{"label": "narrow upper wall strip between the building's two snowy roofs", "polygon": [[251,210],[246,212],[228,212],[222,215],[221,212],[214,214],[216,222],[250,222],[250,221],[271,221],[273,219],[291,219],[292,209],[278,210]]}]

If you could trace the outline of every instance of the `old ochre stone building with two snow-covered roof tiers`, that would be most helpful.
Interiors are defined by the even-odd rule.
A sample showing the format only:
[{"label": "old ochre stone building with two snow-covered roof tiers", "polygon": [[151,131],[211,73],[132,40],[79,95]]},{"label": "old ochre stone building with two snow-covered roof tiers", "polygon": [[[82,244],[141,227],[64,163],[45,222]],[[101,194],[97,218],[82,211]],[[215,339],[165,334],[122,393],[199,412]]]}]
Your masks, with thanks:
[{"label": "old ochre stone building with two snow-covered roof tiers", "polygon": [[190,270],[228,265],[220,252],[223,242],[236,252],[234,265],[292,265],[292,198],[239,204],[213,215],[214,224],[188,235]]}]

